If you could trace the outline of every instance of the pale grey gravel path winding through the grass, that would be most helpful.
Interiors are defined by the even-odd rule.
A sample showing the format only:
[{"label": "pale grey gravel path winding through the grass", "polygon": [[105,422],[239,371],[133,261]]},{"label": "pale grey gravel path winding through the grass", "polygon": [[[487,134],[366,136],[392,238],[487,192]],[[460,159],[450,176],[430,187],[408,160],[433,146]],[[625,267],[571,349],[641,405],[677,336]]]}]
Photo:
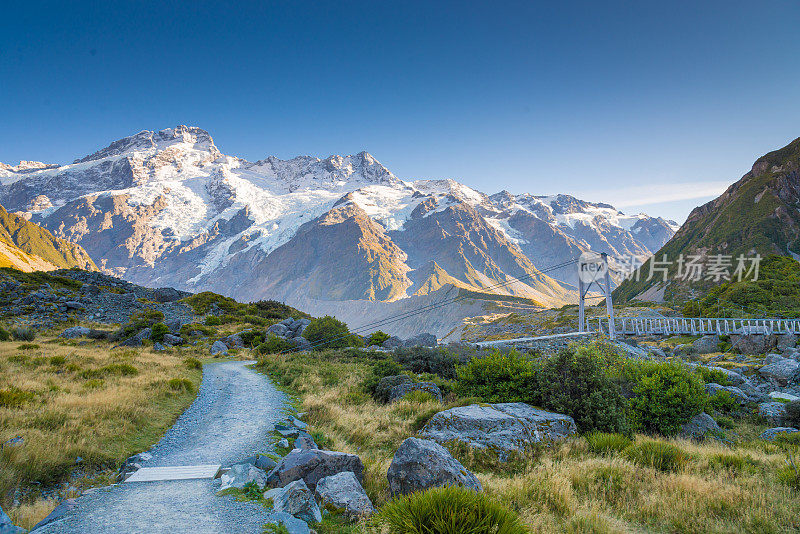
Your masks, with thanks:
[{"label": "pale grey gravel path winding through the grass", "polygon": [[[149,452],[144,467],[230,465],[268,452],[268,433],[282,418],[286,397],[252,362],[219,362],[203,367],[194,403]],[[268,511],[233,497],[217,497],[219,481],[184,480],[123,483],[77,499],[78,506],[36,534],[113,532],[259,533]]]}]

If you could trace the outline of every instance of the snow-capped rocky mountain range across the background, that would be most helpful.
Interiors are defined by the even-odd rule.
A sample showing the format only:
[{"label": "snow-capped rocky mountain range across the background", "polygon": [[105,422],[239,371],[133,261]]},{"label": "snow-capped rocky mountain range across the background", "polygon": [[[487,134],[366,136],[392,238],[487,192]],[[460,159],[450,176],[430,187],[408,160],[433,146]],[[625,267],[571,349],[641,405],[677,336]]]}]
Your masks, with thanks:
[{"label": "snow-capped rocky mountain range across the background", "polygon": [[[573,197],[405,181],[366,152],[222,154],[204,130],[143,131],[69,165],[0,164],[0,204],[132,282],[243,300],[397,301],[446,288],[559,304],[592,248],[647,257],[674,223]],[[492,288],[511,279],[506,287]]]}]

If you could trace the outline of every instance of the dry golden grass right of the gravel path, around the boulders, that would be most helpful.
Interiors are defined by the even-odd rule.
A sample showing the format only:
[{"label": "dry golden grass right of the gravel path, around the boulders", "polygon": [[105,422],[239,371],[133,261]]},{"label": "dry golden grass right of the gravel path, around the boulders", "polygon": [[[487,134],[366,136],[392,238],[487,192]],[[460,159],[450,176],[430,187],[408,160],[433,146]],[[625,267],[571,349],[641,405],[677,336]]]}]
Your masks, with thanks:
[{"label": "dry golden grass right of the gravel path, around the boulders", "polygon": [[[361,456],[367,493],[376,506],[385,503],[394,450],[415,434],[418,417],[441,406],[375,403],[360,390],[366,361],[323,353],[267,356],[260,362],[299,395],[313,430],[332,440],[333,448]],[[752,424],[737,428],[743,437],[758,430]],[[800,531],[800,496],[777,478],[787,458],[781,446],[755,439],[734,447],[710,440],[666,441],[689,458],[678,471],[644,467],[621,453],[592,453],[583,438],[505,464],[453,452],[532,532]]]}]

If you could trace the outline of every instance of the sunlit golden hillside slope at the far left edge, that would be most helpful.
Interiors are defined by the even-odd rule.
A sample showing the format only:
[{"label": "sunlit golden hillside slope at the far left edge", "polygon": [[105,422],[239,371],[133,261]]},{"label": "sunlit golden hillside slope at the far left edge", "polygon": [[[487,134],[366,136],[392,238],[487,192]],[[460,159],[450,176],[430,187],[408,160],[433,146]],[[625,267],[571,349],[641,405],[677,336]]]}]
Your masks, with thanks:
[{"label": "sunlit golden hillside slope at the far left edge", "polygon": [[[83,248],[59,239],[45,228],[0,206],[0,266],[26,271],[69,269],[97,270]],[[25,268],[25,267],[28,268]]]}]

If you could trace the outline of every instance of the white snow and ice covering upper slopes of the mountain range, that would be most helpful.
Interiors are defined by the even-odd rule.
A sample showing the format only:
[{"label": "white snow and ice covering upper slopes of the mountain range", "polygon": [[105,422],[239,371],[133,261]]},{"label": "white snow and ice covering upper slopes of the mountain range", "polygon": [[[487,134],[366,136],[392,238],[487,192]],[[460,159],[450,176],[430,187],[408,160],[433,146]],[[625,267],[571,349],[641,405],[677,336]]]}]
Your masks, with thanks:
[{"label": "white snow and ice covering upper slopes of the mountain range", "polygon": [[[113,176],[106,169],[115,165],[130,165],[134,182],[111,183],[101,191],[86,190],[83,177],[87,173]],[[599,234],[602,239],[609,233],[619,235],[625,243],[633,244],[623,248],[640,256],[652,251],[638,240],[641,228],[637,224],[655,222],[674,232],[674,223],[644,214],[624,215],[611,206],[566,195],[515,196],[503,192],[490,197],[454,180],[404,181],[366,152],[324,159],[299,156],[280,160],[270,156],[248,162],[222,154],[207,132],[186,126],[140,132],[70,165],[0,164],[0,184],[10,186],[21,181],[57,184],[42,191],[27,206],[11,207],[34,217],[52,213],[82,196],[127,195],[131,206],[150,206],[161,199],[165,208],[152,226],[163,230],[165,239],[180,244],[245,210],[253,224],[215,244],[202,259],[201,271],[192,279],[195,281],[223,268],[231,258],[229,251],[234,243],[245,244],[240,251],[260,247],[268,254],[288,242],[304,223],[325,214],[348,194],[351,195],[344,201],[360,206],[387,231],[402,231],[414,210],[433,200],[436,207],[426,216],[464,202],[512,244],[520,246],[527,241],[509,224],[519,211],[558,228],[584,248],[592,244],[586,234]],[[532,261],[536,263],[533,258]]]}]

